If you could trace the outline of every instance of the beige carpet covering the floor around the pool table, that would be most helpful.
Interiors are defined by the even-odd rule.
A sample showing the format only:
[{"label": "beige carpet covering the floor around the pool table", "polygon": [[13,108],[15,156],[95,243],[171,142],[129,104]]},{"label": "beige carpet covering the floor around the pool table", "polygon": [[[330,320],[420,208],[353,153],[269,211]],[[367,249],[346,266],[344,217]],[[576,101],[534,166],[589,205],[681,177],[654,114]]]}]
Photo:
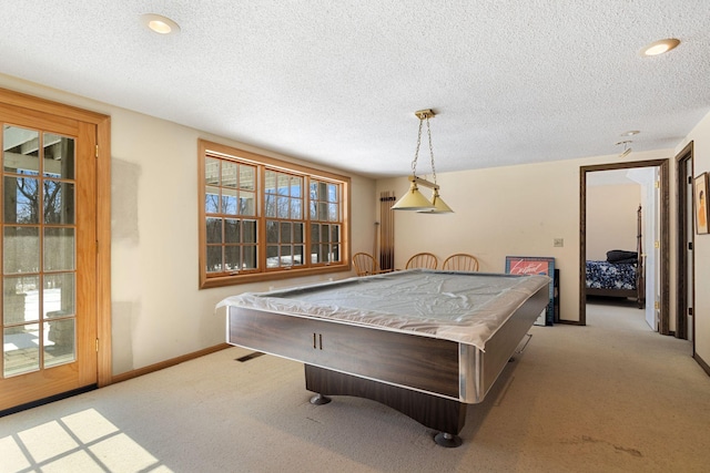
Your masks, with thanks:
[{"label": "beige carpet covering the floor around the pool table", "polygon": [[710,378],[633,308],[532,327],[458,449],[376,402],[308,403],[300,363],[232,348],[0,418],[0,472],[707,472]]}]

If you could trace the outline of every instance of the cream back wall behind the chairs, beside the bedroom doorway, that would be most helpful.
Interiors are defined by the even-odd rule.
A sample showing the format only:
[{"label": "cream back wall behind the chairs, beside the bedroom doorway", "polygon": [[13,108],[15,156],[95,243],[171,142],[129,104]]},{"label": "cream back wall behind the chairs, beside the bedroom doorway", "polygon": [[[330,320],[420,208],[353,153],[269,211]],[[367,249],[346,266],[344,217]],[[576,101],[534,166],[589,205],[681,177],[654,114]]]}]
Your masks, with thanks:
[{"label": "cream back wall behind the chairs, beside the bedroom doorway", "polygon": [[[672,157],[672,151],[661,150],[635,152],[626,161]],[[434,253],[440,261],[452,253],[470,253],[486,273],[504,273],[508,255],[554,257],[560,269],[560,318],[578,321],[579,168],[618,162],[610,155],[437,173],[442,198],[455,213],[395,212],[395,267],[403,268],[417,251]],[[406,177],[377,182],[378,193],[394,191],[399,197],[407,188]],[[565,246],[554,247],[554,238]]]}]

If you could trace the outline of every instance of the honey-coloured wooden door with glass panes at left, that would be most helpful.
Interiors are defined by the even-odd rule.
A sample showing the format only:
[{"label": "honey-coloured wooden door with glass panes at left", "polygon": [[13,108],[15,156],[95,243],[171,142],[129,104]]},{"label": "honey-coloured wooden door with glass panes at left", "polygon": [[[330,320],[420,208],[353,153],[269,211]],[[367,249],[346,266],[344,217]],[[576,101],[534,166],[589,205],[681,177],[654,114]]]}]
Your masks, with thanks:
[{"label": "honey-coloured wooden door with glass panes at left", "polygon": [[97,126],[0,104],[0,410],[97,383]]}]

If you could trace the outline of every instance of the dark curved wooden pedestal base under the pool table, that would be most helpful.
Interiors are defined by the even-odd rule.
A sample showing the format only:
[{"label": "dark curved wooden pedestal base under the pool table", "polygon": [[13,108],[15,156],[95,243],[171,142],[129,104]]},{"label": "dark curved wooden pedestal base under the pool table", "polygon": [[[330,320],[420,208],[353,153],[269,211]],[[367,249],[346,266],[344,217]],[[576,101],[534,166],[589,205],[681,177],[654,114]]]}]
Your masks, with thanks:
[{"label": "dark curved wooden pedestal base under the pool table", "polygon": [[459,446],[458,432],[466,422],[466,403],[379,381],[305,364],[306,389],[317,394],[311,402],[329,395],[354,395],[388,405],[423,425],[440,431],[434,441],[442,446]]}]

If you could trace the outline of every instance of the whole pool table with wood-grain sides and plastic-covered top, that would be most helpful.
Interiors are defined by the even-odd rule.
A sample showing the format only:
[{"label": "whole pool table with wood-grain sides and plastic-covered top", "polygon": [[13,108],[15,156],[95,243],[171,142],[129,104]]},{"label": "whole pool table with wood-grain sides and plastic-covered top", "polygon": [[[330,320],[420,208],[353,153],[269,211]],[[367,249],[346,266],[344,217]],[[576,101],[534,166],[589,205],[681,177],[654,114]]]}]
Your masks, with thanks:
[{"label": "whole pool table with wood-grain sides and plastic-covered top", "polygon": [[389,405],[458,446],[549,301],[549,278],[413,269],[224,299],[227,342],[301,361],[313,403]]}]

